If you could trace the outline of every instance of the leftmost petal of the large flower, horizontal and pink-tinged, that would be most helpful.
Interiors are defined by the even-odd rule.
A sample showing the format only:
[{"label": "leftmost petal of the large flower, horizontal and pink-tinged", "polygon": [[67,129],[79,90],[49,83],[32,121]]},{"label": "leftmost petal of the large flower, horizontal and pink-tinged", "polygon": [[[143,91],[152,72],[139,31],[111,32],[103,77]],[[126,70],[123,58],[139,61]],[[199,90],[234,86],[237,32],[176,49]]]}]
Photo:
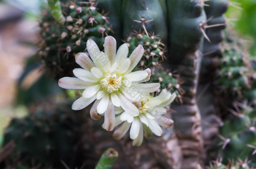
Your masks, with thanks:
[{"label": "leftmost petal of the large flower, horizontal and pink-tinged", "polygon": [[92,83],[85,82],[79,78],[64,77],[59,79],[58,85],[65,89],[84,89],[91,86]]}]

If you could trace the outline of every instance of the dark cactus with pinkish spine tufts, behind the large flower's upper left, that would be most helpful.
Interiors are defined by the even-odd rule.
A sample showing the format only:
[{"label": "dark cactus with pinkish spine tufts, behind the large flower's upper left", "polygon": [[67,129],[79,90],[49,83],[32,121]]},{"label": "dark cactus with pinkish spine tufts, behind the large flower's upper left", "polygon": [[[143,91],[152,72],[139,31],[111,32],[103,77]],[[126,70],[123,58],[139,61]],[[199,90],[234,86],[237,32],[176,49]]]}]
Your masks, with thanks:
[{"label": "dark cactus with pinkish spine tufts, behind the large flower's upper left", "polygon": [[63,5],[63,13],[67,15],[64,24],[56,22],[49,14],[42,18],[39,55],[46,70],[54,78],[72,76],[72,70],[77,66],[74,56],[85,51],[89,38],[103,49],[103,37],[110,28],[107,26],[107,17],[99,13],[95,5],[94,2],[88,6],[71,3]]}]

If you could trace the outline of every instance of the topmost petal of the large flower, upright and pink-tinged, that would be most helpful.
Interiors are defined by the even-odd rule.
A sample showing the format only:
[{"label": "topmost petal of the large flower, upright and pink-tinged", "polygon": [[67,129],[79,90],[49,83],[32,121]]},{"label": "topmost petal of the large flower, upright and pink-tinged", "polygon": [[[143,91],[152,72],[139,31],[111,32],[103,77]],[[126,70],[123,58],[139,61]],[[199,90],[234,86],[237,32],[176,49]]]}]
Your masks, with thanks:
[{"label": "topmost petal of the large flower, upright and pink-tinged", "polygon": [[110,63],[113,64],[115,61],[116,54],[116,41],[112,36],[107,36],[104,42],[104,53],[110,59]]}]

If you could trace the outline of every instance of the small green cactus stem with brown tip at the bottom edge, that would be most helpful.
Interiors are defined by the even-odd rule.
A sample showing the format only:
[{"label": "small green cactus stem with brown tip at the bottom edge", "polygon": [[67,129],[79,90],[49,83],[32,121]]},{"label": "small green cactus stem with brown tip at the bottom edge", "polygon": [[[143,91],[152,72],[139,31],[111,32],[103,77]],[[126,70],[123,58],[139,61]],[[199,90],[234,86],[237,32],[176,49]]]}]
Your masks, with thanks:
[{"label": "small green cactus stem with brown tip at the bottom edge", "polygon": [[95,169],[111,169],[115,160],[118,158],[118,151],[115,149],[107,149],[99,159]]}]

